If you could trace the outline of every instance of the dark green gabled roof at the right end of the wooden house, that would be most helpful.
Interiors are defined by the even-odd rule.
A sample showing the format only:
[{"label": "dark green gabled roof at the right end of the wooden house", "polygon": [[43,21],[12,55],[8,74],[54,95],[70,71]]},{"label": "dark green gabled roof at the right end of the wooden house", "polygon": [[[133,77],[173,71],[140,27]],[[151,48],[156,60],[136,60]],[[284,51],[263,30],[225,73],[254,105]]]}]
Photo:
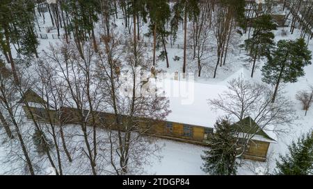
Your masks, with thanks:
[{"label": "dark green gabled roof at the right end of the wooden house", "polygon": [[268,136],[268,134],[266,134],[266,132],[264,132],[264,130],[259,127],[259,125],[257,125],[257,123],[255,123],[255,121],[250,116],[239,120],[239,122],[237,123],[234,123],[232,127],[236,129],[236,132],[257,134],[259,136],[264,136],[265,138],[275,141],[273,138]]}]

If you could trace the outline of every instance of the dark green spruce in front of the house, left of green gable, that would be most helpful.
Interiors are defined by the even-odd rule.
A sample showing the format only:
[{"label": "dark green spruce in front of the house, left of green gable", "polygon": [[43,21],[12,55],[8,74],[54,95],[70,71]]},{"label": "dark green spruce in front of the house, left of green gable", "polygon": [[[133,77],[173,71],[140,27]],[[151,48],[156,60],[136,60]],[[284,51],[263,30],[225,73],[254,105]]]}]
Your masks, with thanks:
[{"label": "dark green spruce in front of the house, left of green gable", "polygon": [[236,174],[236,138],[234,128],[228,118],[216,121],[215,134],[209,137],[211,150],[204,151],[202,170],[209,174]]}]

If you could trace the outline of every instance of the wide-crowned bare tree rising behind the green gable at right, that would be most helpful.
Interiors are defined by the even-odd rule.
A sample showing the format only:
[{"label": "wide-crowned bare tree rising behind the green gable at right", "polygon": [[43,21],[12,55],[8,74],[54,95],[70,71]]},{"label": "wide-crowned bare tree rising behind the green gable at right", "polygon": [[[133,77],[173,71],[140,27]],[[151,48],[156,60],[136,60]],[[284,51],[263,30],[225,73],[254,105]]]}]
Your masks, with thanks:
[{"label": "wide-crowned bare tree rising behind the green gable at right", "polygon": [[[259,127],[255,127],[251,122],[251,127],[245,130],[244,134],[238,133],[239,138],[244,138],[246,144],[261,129],[280,134],[286,132],[287,126],[294,123],[296,117],[293,113],[293,105],[284,96],[280,96],[277,102],[272,104],[273,93],[263,84],[250,83],[242,77],[231,80],[228,84],[228,90],[220,94],[218,98],[209,100],[209,105],[213,109],[225,111],[230,118],[234,118],[236,121],[250,116],[253,122],[259,125]],[[242,153],[239,153],[239,156],[245,152],[245,148],[246,145],[243,145]]]}]

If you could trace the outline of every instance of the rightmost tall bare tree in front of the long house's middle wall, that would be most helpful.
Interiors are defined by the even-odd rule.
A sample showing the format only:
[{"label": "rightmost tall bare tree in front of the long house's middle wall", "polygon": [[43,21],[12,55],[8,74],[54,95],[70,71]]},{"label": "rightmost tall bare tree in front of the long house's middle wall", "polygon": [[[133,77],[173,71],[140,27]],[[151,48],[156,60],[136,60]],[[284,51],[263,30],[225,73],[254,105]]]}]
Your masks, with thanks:
[{"label": "rightmost tall bare tree in front of the long house's middle wall", "polygon": [[153,138],[149,136],[154,124],[168,114],[168,100],[138,92],[145,83],[141,73],[149,71],[151,66],[142,44],[134,48],[129,39],[129,45],[120,49],[111,35],[102,37],[104,52],[99,53],[97,61],[101,90],[109,94],[105,101],[113,112],[113,118],[106,119],[103,127],[108,129],[110,161],[115,174],[134,174],[150,163],[150,156],[157,156],[159,147],[152,145]]}]

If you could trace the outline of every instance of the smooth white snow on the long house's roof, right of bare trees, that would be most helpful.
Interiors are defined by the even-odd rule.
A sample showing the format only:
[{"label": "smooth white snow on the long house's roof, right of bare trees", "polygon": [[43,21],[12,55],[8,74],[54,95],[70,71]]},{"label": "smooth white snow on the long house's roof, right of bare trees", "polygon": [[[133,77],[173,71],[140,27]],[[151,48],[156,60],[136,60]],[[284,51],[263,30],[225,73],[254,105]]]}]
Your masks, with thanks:
[{"label": "smooth white snow on the long house's roof, right of bare trees", "polygon": [[217,98],[226,89],[226,86],[218,84],[163,80],[163,90],[170,100],[172,111],[166,119],[176,123],[214,127],[223,112],[211,110],[208,100]]}]

